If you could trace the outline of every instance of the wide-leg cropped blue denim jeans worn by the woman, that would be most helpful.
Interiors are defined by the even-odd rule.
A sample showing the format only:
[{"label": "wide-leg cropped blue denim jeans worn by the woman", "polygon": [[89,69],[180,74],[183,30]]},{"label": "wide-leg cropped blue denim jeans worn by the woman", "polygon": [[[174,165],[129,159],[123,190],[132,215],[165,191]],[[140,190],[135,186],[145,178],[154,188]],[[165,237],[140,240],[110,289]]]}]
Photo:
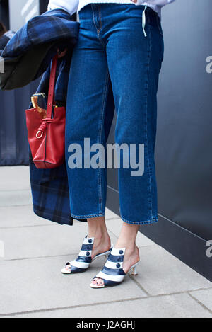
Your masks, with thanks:
[{"label": "wide-leg cropped blue denim jeans worn by the woman", "polygon": [[81,145],[83,161],[88,151],[84,138],[90,145],[105,146],[115,106],[115,142],[144,144],[143,175],[131,176],[131,166],[122,163],[118,170],[120,215],[129,224],[157,222],[156,95],[164,48],[160,18],[151,8],[134,4],[88,4],[79,11],[79,23],[66,103],[71,216],[105,214],[106,167],[70,168],[69,145]]}]

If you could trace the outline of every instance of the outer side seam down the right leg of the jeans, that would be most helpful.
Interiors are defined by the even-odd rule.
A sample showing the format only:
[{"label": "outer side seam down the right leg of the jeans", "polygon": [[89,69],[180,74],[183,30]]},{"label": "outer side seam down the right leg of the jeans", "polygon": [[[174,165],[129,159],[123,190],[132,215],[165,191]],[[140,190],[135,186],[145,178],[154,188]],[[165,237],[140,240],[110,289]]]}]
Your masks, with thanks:
[{"label": "outer side seam down the right leg of the jeans", "polygon": [[153,202],[152,202],[152,192],[151,192],[151,169],[150,169],[150,160],[149,160],[149,149],[148,149],[148,87],[149,87],[149,71],[151,63],[151,48],[152,48],[152,39],[151,39],[151,27],[148,25],[149,30],[149,52],[148,52],[148,69],[147,69],[147,84],[146,84],[146,149],[147,149],[147,159],[148,159],[148,176],[149,176],[149,205],[151,209],[151,217],[153,218]]}]

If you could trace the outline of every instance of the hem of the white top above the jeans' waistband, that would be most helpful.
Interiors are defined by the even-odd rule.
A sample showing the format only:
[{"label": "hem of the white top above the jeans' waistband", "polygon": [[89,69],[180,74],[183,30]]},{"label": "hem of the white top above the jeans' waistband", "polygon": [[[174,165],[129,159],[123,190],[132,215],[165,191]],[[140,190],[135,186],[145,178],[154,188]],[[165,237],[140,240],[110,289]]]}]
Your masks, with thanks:
[{"label": "hem of the white top above the jeans' waistband", "polygon": [[167,4],[170,4],[175,0],[137,0],[136,4],[131,0],[50,0],[48,11],[56,8],[62,8],[65,11],[68,11],[70,15],[76,13],[76,11],[80,11],[81,8],[86,6],[87,4],[101,4],[101,3],[116,3],[116,4],[134,4],[135,6],[143,5],[148,6],[156,11],[158,15],[161,15],[161,8]]}]

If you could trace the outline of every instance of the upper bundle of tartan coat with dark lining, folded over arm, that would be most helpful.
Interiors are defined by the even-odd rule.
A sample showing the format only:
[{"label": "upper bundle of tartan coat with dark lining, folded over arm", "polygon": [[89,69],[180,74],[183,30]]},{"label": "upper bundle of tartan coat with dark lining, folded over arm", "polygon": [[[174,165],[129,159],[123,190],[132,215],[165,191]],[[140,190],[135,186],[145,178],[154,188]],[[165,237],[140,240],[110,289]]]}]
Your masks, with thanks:
[{"label": "upper bundle of tartan coat with dark lining, folded over arm", "polygon": [[78,28],[79,23],[72,21],[63,9],[31,18],[13,35],[1,53],[0,61],[4,62],[4,73],[0,73],[1,90],[20,88],[40,77],[58,48],[64,50],[66,47],[69,51],[66,63],[61,60],[64,66],[61,73],[67,76],[67,59],[78,40]]}]

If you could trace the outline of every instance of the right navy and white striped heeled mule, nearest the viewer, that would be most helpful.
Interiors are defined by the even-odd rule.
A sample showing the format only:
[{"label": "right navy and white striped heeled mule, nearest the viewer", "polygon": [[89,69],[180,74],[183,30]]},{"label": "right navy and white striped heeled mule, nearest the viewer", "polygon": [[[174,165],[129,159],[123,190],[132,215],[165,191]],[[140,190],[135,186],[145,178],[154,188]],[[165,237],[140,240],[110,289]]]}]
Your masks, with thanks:
[{"label": "right navy and white striped heeled mule, nearest the viewer", "polygon": [[[122,265],[124,262],[125,250],[126,248],[112,248],[104,268],[102,268],[102,270],[93,278],[93,280],[100,278],[101,281],[98,282],[98,285],[91,283],[90,287],[103,288],[116,286],[124,280],[126,273],[124,272]],[[136,273],[136,265],[139,263],[140,261],[132,265],[129,269],[129,272],[131,272],[132,275],[138,275],[138,273]]]}]

